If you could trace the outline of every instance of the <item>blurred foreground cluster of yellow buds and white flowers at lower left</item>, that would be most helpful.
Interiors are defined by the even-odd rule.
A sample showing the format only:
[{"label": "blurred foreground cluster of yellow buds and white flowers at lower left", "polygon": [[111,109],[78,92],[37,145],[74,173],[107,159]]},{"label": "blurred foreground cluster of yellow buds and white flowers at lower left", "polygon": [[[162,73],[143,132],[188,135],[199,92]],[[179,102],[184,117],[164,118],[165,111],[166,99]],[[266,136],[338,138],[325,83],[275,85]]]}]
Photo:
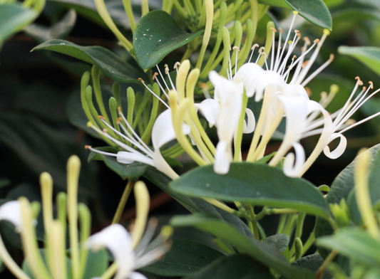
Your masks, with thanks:
[{"label": "blurred foreground cluster of yellow buds and white flowers at lower left", "polygon": [[[170,243],[167,240],[172,228],[164,227],[160,235],[153,241],[153,245],[149,244],[157,221],[151,220],[143,235],[148,214],[149,194],[145,184],[138,181],[134,186],[138,209],[132,233],[128,233],[120,224],[114,223],[90,236],[90,211],[86,205],[78,204],[77,201],[80,164],[76,156],[72,156],[68,160],[68,194],[60,193],[57,196],[57,219],[53,219],[53,180],[48,173],[41,174],[42,213],[46,243],[44,251],[47,263],[43,262],[36,239],[35,219],[40,208],[38,203],[30,204],[24,197],[17,201],[7,201],[0,206],[0,220],[13,223],[16,231],[21,234],[26,263],[34,278],[81,279],[86,271],[88,249],[96,251],[100,248],[108,248],[115,260],[105,274],[112,276],[116,271],[116,279],[145,278],[144,275],[136,273],[134,270],[150,265],[168,251]],[[66,256],[66,217],[70,239],[70,258]],[[80,233],[78,233],[78,223],[81,225]],[[78,239],[78,235],[80,239]],[[11,258],[1,236],[0,258],[16,278],[30,279],[29,275]],[[71,270],[68,270],[68,261],[71,263],[69,265]]]}]

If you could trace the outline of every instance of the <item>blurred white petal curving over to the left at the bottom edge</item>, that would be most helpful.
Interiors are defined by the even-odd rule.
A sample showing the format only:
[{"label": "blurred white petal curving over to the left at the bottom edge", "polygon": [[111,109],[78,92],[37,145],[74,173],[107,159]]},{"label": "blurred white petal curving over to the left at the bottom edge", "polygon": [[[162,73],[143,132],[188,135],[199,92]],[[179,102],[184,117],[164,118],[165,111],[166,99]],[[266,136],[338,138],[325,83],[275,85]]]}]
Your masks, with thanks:
[{"label": "blurred white petal curving over to the left at the bottom edge", "polygon": [[114,279],[129,278],[134,269],[135,256],[130,235],[123,226],[115,223],[103,228],[102,231],[90,236],[85,245],[95,251],[103,247],[108,248],[115,262],[118,263],[118,271]]}]

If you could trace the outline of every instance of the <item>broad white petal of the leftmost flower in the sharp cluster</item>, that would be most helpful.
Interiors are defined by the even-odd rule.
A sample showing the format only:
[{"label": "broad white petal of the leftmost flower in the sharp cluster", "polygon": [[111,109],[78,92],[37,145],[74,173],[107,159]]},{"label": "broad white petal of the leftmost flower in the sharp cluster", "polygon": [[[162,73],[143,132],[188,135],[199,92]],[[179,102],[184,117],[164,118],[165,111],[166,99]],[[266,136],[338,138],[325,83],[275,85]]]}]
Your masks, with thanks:
[{"label": "broad white petal of the leftmost flower in the sharp cluster", "polygon": [[[183,133],[188,135],[190,127],[183,125]],[[158,115],[152,129],[152,142],[154,149],[160,149],[164,144],[175,139],[175,132],[173,129],[172,112],[170,109],[165,110]]]}]

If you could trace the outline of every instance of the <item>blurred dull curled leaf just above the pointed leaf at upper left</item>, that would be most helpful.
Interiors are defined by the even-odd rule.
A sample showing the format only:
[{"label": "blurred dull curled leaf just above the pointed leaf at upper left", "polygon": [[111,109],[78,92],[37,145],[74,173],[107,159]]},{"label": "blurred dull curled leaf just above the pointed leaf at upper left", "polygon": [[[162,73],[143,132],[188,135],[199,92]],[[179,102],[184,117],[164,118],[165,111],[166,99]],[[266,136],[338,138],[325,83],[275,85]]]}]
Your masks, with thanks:
[{"label": "blurred dull curled leaf just above the pointed leaf at upper left", "polygon": [[43,26],[33,23],[25,28],[26,33],[34,38],[38,43],[51,40],[53,38],[66,38],[76,23],[76,11],[70,9],[57,23],[53,26]]}]

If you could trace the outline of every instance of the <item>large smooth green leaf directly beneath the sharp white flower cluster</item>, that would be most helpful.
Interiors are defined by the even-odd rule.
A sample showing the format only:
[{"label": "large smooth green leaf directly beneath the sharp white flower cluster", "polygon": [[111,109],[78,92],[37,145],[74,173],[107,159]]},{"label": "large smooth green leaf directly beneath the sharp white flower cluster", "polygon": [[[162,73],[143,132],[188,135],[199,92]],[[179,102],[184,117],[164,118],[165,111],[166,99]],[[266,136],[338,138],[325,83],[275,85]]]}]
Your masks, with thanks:
[{"label": "large smooth green leaf directly beneath the sharp white flower cluster", "polygon": [[329,207],[309,181],[287,177],[282,169],[266,164],[232,163],[228,174],[216,174],[213,166],[197,167],[170,183],[180,194],[221,201],[241,201],[258,206],[297,209],[328,218]]}]

